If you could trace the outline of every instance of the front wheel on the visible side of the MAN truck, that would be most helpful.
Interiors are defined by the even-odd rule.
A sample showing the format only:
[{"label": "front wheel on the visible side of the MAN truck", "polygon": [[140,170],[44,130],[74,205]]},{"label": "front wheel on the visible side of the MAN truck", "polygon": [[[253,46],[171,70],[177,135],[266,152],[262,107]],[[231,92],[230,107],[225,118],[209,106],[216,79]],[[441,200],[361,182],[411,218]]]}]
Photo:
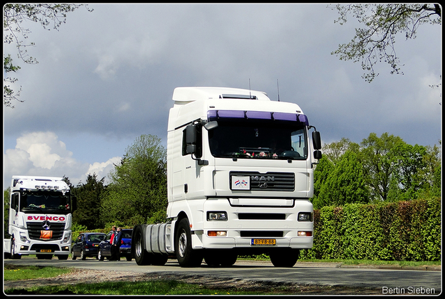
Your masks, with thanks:
[{"label": "front wheel on the visible side of the MAN truck", "polygon": [[187,218],[179,221],[175,234],[175,252],[181,267],[197,267],[202,263],[202,250],[192,249],[190,224]]}]

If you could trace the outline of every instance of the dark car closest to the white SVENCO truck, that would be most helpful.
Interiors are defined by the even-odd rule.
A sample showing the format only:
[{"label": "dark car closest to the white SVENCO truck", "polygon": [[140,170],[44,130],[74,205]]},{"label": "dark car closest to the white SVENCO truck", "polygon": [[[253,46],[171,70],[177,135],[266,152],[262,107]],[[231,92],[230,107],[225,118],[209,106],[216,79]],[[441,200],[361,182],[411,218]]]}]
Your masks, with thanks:
[{"label": "dark car closest to the white SVENCO truck", "polygon": [[106,234],[102,232],[86,232],[79,234],[76,241],[72,245],[72,259],[80,257],[81,259],[86,259],[86,257],[96,257],[97,252],[99,252],[99,243],[104,241]]}]

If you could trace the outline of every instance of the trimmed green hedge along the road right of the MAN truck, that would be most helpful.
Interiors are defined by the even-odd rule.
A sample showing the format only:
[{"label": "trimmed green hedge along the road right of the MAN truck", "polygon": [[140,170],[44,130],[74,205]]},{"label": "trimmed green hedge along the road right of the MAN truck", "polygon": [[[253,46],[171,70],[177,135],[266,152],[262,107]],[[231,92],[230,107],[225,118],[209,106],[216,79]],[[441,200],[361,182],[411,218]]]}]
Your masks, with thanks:
[{"label": "trimmed green hedge along the road right of the MAN truck", "polygon": [[441,200],[314,210],[314,246],[300,259],[439,261]]}]

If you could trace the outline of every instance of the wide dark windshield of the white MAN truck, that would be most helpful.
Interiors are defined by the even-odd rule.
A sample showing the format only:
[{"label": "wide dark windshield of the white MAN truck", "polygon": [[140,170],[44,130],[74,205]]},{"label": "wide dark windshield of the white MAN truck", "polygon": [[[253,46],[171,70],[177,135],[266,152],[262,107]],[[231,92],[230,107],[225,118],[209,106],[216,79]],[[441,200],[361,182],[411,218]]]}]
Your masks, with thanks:
[{"label": "wide dark windshield of the white MAN truck", "polygon": [[219,119],[218,127],[209,131],[209,144],[218,158],[307,159],[301,122]]}]

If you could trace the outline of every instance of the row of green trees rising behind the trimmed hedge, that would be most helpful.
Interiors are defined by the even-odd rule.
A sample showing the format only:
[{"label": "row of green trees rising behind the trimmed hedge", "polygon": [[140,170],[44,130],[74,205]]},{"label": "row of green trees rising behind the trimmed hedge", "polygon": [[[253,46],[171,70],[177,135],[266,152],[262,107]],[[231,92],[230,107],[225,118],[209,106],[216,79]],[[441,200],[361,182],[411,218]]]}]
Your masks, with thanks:
[{"label": "row of green trees rising behind the trimmed hedge", "polygon": [[323,145],[314,170],[314,209],[346,203],[416,200],[442,194],[441,150],[369,134]]}]

